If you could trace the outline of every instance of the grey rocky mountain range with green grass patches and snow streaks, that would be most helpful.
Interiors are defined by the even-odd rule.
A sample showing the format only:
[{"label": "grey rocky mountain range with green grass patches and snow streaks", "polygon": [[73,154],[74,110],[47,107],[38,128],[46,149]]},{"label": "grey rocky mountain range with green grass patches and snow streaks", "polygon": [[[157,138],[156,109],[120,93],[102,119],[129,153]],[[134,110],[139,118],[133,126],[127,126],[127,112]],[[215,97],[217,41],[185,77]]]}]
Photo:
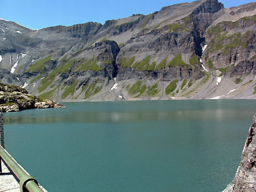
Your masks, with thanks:
[{"label": "grey rocky mountain range with green grass patches and snow streaks", "polygon": [[256,3],[32,30],[0,20],[0,81],[45,99],[256,99]]}]

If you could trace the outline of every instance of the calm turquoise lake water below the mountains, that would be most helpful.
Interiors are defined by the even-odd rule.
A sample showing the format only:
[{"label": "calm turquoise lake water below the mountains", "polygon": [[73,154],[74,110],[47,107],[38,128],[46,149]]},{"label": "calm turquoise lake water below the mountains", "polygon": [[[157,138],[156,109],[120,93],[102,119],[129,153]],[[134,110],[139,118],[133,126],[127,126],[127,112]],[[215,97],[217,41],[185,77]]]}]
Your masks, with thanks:
[{"label": "calm turquoise lake water below the mountains", "polygon": [[256,100],[70,102],[4,114],[6,149],[48,191],[222,191]]}]

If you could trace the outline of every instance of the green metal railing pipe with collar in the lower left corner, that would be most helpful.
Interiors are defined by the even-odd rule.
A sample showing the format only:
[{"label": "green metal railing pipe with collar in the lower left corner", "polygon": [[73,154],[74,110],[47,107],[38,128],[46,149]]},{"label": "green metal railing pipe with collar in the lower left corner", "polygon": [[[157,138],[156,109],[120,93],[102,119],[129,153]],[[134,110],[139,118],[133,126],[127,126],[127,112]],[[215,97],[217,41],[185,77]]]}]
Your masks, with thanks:
[{"label": "green metal railing pipe with collar in the lower left corner", "polygon": [[12,157],[0,146],[0,156],[4,162],[10,167],[12,172],[20,180],[20,192],[42,192],[43,190],[39,188],[38,182],[31,176],[28,175],[20,166],[13,161]]}]

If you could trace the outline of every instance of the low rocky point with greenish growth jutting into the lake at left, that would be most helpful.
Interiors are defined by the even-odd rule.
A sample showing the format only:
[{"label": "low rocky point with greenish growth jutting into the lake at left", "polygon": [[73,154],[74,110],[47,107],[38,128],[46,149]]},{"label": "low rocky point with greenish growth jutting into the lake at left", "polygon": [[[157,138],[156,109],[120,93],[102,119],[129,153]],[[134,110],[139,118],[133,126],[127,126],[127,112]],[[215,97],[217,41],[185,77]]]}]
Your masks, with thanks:
[{"label": "low rocky point with greenish growth jutting into the lake at left", "polygon": [[19,86],[0,83],[0,111],[2,113],[46,108],[65,108],[65,106],[31,95]]}]

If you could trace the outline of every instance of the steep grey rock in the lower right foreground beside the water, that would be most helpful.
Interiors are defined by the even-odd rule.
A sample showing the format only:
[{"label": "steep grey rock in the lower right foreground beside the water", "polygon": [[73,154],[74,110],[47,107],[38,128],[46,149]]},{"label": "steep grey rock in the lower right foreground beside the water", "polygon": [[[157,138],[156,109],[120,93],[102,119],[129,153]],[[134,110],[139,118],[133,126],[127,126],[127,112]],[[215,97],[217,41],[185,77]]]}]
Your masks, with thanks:
[{"label": "steep grey rock in the lower right foreground beside the water", "polygon": [[235,179],[223,192],[256,191],[256,114],[253,116]]}]

